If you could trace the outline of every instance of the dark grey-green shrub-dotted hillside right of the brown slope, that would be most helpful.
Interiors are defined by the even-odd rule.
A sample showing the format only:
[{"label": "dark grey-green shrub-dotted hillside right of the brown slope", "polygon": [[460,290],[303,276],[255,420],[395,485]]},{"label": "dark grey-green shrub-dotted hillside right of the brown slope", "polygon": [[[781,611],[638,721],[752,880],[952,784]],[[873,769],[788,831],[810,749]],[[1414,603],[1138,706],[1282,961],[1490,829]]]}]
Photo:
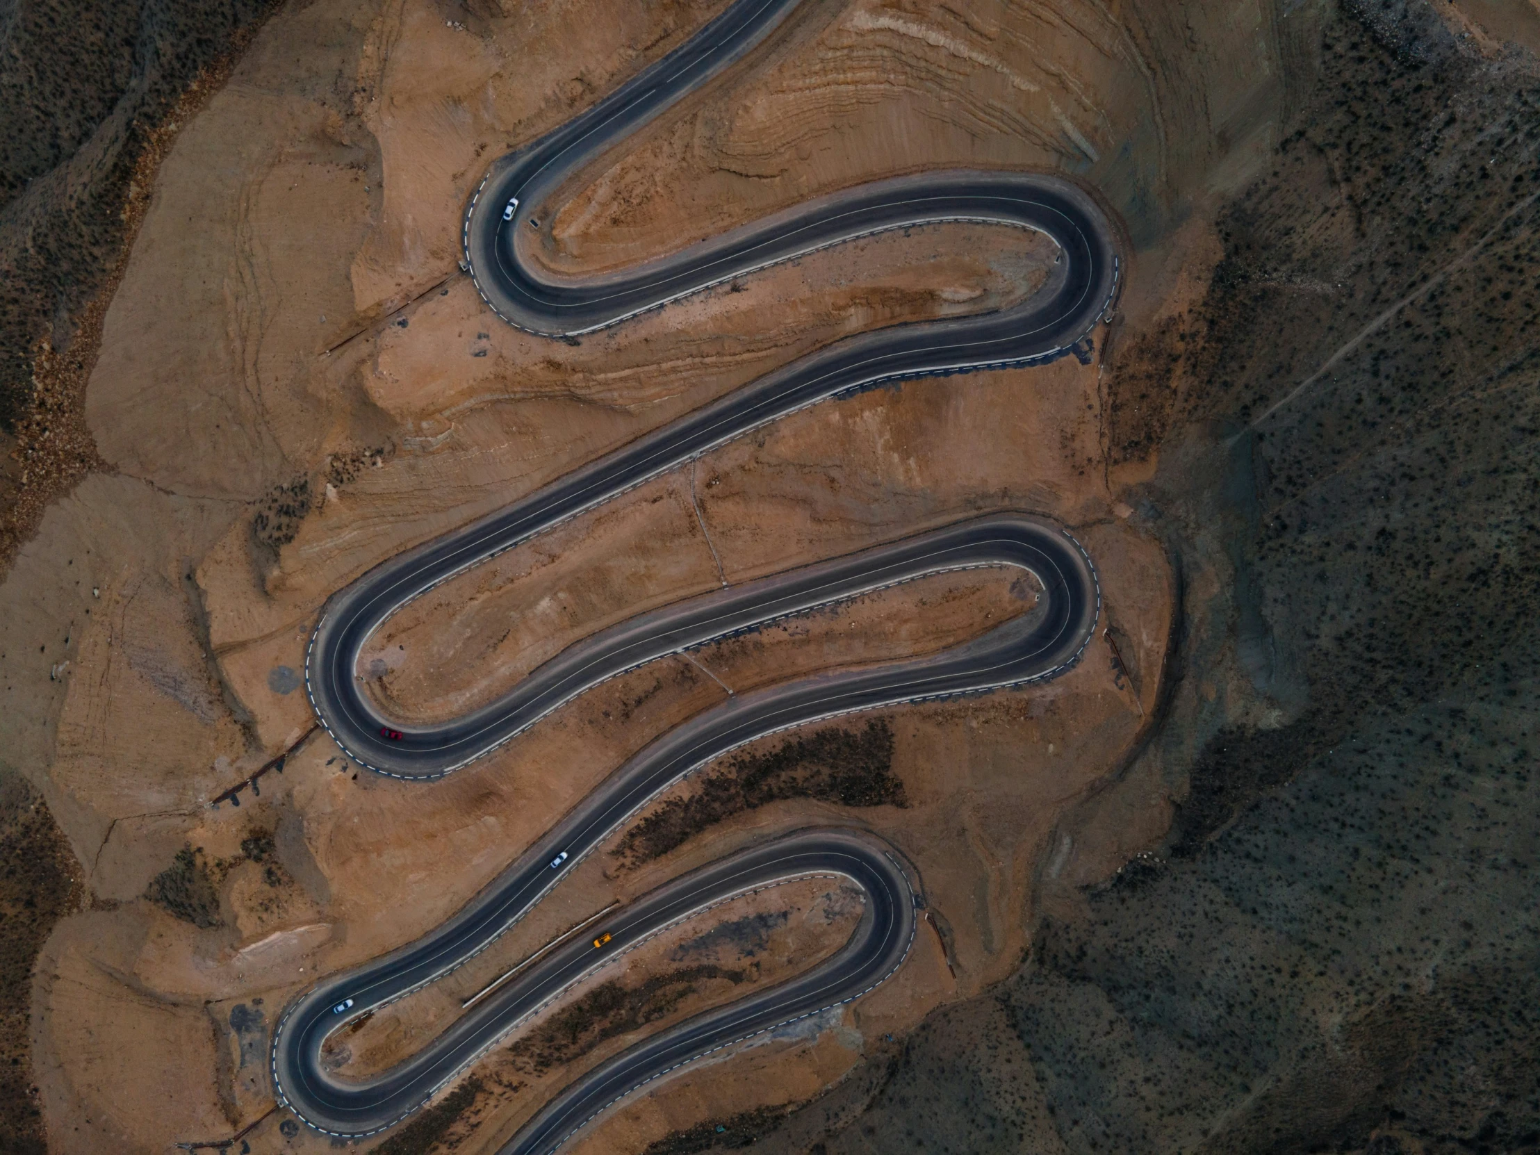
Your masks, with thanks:
[{"label": "dark grey-green shrub-dotted hillside right of the brown slope", "polygon": [[1103,802],[1187,765],[1170,835],[759,1147],[1532,1144],[1540,75],[1395,15],[1326,26],[1209,283],[1110,371],[1129,500],[1227,604]]}]

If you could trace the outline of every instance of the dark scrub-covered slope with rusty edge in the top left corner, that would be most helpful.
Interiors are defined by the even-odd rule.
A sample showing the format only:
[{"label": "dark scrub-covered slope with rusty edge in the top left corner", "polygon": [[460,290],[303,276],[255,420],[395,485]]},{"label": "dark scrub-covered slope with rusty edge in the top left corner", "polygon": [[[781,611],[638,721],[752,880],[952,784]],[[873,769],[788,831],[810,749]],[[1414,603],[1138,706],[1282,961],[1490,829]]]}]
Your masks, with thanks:
[{"label": "dark scrub-covered slope with rusty edge in the top left corner", "polygon": [[279,0],[0,11],[0,568],[102,468],[82,417],[156,163]]}]

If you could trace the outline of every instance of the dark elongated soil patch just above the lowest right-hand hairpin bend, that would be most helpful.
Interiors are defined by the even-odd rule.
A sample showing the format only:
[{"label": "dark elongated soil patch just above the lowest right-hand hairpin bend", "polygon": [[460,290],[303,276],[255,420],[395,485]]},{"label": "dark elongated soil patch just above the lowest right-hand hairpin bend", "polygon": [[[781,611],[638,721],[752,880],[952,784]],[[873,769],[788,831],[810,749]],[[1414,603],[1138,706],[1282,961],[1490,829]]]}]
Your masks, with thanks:
[{"label": "dark elongated soil patch just above the lowest right-hand hairpin bend", "polygon": [[838,805],[907,805],[893,775],[893,728],[875,718],[862,730],[829,727],[767,753],[741,755],[711,772],[688,798],[670,798],[625,832],[611,852],[627,865],[667,855],[733,815],[785,798]]}]

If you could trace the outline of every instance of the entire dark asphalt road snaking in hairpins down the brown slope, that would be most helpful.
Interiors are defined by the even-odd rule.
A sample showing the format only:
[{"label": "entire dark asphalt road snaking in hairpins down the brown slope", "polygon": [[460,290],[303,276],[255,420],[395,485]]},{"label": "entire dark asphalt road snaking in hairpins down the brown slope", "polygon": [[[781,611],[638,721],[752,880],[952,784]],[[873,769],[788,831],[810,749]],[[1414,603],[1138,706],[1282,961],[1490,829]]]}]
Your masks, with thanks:
[{"label": "entire dark asphalt road snaking in hairpins down the brown slope", "polygon": [[[1110,306],[1118,257],[1106,219],[1075,185],[1026,172],[946,171],[861,185],[602,277],[554,277],[528,257],[525,248],[539,236],[539,213],[553,192],[752,51],[795,6],[796,0],[738,0],[688,43],[497,162],[464,229],[467,268],[487,303],[531,333],[576,336],[853,237],[956,220],[1050,237],[1058,257],[1047,282],[1012,308],[832,343],[490,517],[393,557],[328,601],[306,651],[311,704],[362,767],[434,779],[608,678],[872,590],[953,570],[1013,568],[1036,578],[1036,608],[927,658],[730,696],[619,767],[453,919],[391,955],[320,981],[285,1010],[271,1050],[279,1101],[317,1130],[362,1137],[396,1124],[596,967],[705,907],[792,878],[839,876],[861,889],[864,913],[841,950],[793,979],[668,1027],[599,1064],[545,1104],[504,1152],[553,1150],[607,1106],[682,1063],[859,998],[893,973],[909,950],[922,901],[916,875],[870,833],[802,830],[671,879],[596,922],[594,933],[611,936],[602,950],[588,936],[557,946],[376,1078],[345,1080],[320,1061],[331,1032],[485,950],[648,799],[705,762],[822,718],[1052,678],[1078,661],[1093,634],[1101,596],[1090,559],[1061,527],[1004,511],[641,614],[568,647],[507,695],[444,724],[396,722],[363,691],[362,647],[402,605],[434,585],[818,400],[902,377],[1052,360],[1089,336]],[[383,738],[382,727],[402,738]],[[553,867],[562,852],[565,858]]]}]

